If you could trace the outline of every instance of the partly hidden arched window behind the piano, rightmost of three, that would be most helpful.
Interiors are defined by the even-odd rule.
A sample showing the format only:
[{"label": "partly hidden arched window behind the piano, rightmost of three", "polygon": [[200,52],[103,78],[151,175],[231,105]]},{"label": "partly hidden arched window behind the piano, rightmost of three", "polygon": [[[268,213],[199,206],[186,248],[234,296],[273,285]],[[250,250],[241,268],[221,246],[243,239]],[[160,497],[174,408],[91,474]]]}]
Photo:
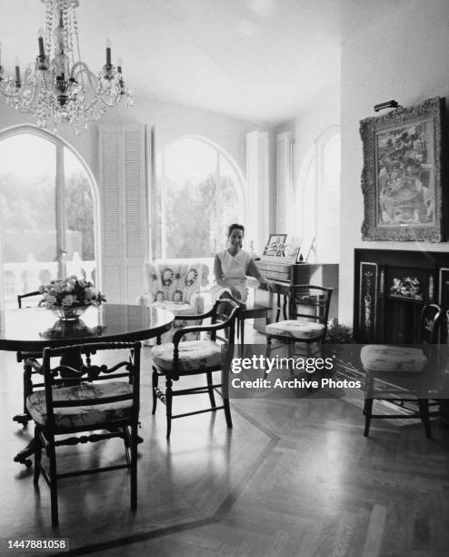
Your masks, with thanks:
[{"label": "partly hidden arched window behind the piano, rightmost of three", "polygon": [[333,126],[309,147],[296,187],[295,212],[301,218],[295,233],[304,247],[313,245],[309,261],[339,261],[340,166],[340,127]]}]

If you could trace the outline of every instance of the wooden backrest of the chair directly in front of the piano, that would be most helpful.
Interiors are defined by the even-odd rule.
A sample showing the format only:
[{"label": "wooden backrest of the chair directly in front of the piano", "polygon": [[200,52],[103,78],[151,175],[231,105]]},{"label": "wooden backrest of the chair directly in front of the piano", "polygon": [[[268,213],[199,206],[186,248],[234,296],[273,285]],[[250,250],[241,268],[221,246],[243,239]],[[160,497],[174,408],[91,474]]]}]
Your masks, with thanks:
[{"label": "wooden backrest of the chair directly in front of the piano", "polygon": [[333,289],[311,284],[298,284],[290,287],[288,295],[289,319],[313,319],[327,328],[332,292]]}]

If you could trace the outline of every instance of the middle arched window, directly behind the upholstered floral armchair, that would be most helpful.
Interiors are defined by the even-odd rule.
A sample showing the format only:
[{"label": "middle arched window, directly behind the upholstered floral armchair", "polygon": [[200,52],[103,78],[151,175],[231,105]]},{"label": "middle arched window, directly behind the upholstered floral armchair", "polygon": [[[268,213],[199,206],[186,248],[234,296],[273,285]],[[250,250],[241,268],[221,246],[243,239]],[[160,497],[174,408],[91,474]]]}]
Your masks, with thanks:
[{"label": "middle arched window, directly behind the upholstered floral armchair", "polygon": [[[182,137],[156,157],[162,258],[211,258],[226,228],[244,219],[243,177],[231,157],[199,137]],[[157,234],[157,233],[156,233]]]}]

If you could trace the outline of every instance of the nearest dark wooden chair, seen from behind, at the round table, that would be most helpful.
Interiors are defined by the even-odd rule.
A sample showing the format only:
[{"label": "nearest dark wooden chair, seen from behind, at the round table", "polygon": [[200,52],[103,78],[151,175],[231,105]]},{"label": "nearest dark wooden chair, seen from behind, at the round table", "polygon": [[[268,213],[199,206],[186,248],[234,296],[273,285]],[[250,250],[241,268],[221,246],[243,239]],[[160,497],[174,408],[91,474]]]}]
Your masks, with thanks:
[{"label": "nearest dark wooden chair, seen from behind, at the round table", "polygon": [[[31,394],[26,405],[35,420],[35,484],[42,473],[51,491],[53,526],[58,524],[57,486],[62,478],[128,468],[131,472],[131,509],[134,511],[137,507],[140,348],[140,342],[115,342],[44,349],[45,390]],[[92,365],[89,357],[92,350],[115,349],[128,349],[128,360],[121,360],[110,368]],[[58,363],[52,368],[55,358]],[[67,434],[95,430],[105,431],[66,438]],[[61,435],[65,439],[59,439]],[[57,447],[117,437],[125,442],[123,464],[65,473],[57,471]],[[49,471],[42,463],[42,449],[49,459]]]}]

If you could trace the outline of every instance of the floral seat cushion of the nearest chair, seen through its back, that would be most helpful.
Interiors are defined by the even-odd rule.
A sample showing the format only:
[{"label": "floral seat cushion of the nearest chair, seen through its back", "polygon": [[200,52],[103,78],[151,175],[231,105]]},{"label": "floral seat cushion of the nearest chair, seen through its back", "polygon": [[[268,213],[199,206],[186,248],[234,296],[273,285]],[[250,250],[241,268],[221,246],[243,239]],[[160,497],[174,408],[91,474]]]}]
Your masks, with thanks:
[{"label": "floral seat cushion of the nearest chair, seen through its back", "polygon": [[[87,426],[108,420],[129,417],[132,400],[120,400],[97,406],[83,406],[83,400],[130,394],[132,385],[123,381],[81,383],[72,387],[55,388],[54,400],[79,400],[79,406],[55,408],[55,424],[58,427]],[[47,420],[45,390],[36,390],[26,399],[26,408],[33,420],[45,425]]]}]

